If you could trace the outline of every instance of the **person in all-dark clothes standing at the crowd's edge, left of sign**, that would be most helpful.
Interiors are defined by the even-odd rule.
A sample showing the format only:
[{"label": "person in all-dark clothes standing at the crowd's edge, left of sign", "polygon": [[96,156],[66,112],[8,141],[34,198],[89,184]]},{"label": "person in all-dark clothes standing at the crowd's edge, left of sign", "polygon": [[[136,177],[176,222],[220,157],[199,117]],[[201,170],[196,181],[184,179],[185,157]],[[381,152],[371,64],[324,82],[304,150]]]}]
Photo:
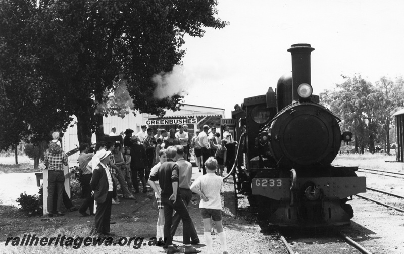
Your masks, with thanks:
[{"label": "person in all-dark clothes standing at the crowd's edge, left of sign", "polygon": [[[131,137],[132,146],[130,147],[130,156],[132,160],[130,162],[130,170],[132,171],[132,183],[135,188],[135,193],[139,193],[139,183],[137,182],[137,176],[139,175],[140,181],[143,185],[143,193],[147,192],[146,179],[144,178],[144,170],[147,168],[146,151],[142,144],[138,144],[138,138],[136,135]],[[147,168],[148,169],[148,168]]]}]

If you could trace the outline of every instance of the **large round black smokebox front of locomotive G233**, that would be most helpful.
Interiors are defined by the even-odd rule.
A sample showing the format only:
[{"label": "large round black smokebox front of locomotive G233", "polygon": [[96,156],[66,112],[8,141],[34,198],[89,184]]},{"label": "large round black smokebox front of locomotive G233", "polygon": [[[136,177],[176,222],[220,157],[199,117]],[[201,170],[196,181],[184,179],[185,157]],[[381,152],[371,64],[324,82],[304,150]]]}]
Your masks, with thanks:
[{"label": "large round black smokebox front of locomotive G233", "polygon": [[279,166],[329,165],[338,154],[341,132],[334,115],[312,103],[286,107],[272,123],[272,155]]}]

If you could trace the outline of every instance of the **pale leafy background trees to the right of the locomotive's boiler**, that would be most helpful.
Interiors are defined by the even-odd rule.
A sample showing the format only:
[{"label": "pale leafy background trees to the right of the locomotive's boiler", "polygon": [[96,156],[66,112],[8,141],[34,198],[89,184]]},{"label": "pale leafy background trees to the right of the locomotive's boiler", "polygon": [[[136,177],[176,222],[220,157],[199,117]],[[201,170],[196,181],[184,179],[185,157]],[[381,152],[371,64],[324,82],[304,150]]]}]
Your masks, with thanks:
[{"label": "pale leafy background trees to the right of the locomotive's boiler", "polygon": [[334,90],[320,94],[320,101],[341,119],[341,129],[354,133],[355,151],[375,152],[375,141],[390,153],[389,130],[392,114],[404,106],[404,82],[382,77],[375,85],[361,75],[344,76],[345,81]]}]

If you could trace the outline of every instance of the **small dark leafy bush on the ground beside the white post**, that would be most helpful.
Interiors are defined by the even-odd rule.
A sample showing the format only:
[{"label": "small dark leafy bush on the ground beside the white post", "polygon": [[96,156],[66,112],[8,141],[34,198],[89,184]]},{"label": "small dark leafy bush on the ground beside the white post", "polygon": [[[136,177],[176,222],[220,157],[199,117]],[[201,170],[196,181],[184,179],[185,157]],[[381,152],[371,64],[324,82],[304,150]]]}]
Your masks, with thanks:
[{"label": "small dark leafy bush on the ground beside the white post", "polygon": [[17,203],[21,206],[20,210],[26,213],[28,216],[41,216],[43,215],[43,187],[41,186],[38,191],[39,195],[27,195],[20,194],[17,198]]}]

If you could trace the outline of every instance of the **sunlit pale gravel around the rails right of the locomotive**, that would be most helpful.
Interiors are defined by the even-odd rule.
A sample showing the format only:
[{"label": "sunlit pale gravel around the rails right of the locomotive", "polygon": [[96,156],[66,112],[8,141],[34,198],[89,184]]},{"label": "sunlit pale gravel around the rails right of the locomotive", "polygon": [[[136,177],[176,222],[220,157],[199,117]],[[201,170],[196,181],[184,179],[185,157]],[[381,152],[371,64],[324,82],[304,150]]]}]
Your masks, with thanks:
[{"label": "sunlit pale gravel around the rails right of the locomotive", "polygon": [[[347,161],[337,157],[337,164],[355,165],[364,168],[377,168],[402,172],[403,163],[391,163],[393,158],[379,159],[372,165],[361,165],[361,161]],[[366,162],[364,162],[366,163]],[[367,162],[369,164],[369,162]],[[382,176],[370,173],[357,172],[358,176],[366,177],[368,187],[404,195],[404,179]],[[397,207],[404,206],[404,200],[393,196],[376,194],[372,191],[361,193],[363,196],[374,197],[382,202],[391,203]],[[351,219],[351,227],[344,228],[343,232],[372,253],[404,253],[404,213],[377,205],[374,202],[354,197],[349,201],[354,208],[355,216]]]}]

